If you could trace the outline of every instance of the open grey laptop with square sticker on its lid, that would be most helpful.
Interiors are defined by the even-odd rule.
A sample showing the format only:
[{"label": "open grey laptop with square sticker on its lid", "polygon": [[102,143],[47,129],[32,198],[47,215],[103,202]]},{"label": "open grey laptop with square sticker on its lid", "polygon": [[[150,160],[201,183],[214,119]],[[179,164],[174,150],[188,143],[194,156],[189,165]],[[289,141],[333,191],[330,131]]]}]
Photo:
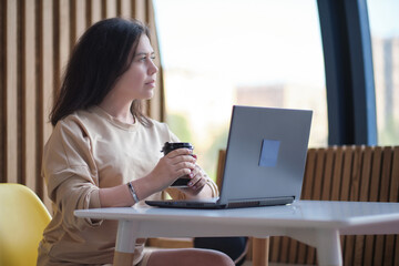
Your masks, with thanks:
[{"label": "open grey laptop with square sticker on its lid", "polygon": [[221,194],[146,201],[151,206],[234,208],[299,200],[313,111],[234,105]]}]

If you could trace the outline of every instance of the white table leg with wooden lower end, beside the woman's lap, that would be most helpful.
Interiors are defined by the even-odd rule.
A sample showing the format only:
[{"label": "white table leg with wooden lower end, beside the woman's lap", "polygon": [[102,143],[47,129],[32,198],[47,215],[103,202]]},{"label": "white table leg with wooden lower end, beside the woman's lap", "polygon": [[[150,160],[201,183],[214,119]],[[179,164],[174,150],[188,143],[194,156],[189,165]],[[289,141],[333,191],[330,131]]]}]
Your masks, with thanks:
[{"label": "white table leg with wooden lower end, beside the woman's lap", "polygon": [[136,233],[139,231],[139,222],[119,221],[115,254],[113,259],[114,266],[133,265],[134,248]]}]

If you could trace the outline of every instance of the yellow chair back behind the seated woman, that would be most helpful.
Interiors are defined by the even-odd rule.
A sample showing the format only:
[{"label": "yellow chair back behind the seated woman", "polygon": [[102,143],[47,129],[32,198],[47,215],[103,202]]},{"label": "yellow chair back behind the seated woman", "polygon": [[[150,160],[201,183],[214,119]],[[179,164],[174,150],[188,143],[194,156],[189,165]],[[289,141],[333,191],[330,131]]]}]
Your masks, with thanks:
[{"label": "yellow chair back behind the seated woman", "polygon": [[38,245],[51,215],[21,184],[0,184],[0,265],[37,265]]}]

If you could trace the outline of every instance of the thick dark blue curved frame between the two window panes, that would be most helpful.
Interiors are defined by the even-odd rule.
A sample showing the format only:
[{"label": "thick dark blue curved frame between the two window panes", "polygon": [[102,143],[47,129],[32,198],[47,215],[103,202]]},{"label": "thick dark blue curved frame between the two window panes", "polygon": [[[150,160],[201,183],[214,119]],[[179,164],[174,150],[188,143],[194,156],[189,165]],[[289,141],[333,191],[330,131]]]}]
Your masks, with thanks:
[{"label": "thick dark blue curved frame between the two window panes", "polygon": [[328,144],[377,145],[366,0],[317,0],[325,57]]}]

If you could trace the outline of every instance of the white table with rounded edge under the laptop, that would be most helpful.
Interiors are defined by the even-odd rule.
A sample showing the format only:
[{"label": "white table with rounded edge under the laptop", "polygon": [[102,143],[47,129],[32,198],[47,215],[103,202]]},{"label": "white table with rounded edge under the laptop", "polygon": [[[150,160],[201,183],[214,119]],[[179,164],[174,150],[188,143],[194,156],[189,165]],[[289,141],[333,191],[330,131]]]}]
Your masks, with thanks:
[{"label": "white table with rounded edge under the laptop", "polygon": [[289,236],[316,247],[319,265],[342,265],[339,235],[399,233],[399,203],[298,201],[208,211],[117,207],[75,211],[75,215],[119,221],[115,265],[133,259],[139,237],[195,236]]}]

